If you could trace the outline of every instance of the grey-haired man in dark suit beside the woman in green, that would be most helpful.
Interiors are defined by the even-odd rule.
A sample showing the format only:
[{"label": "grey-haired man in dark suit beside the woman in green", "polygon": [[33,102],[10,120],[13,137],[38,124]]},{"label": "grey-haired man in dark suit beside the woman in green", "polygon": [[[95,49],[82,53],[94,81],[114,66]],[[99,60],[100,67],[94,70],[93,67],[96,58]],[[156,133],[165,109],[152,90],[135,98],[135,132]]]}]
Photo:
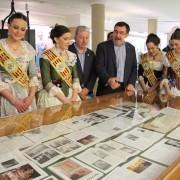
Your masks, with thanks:
[{"label": "grey-haired man in dark suit beside the woman in green", "polygon": [[89,29],[86,26],[78,26],[75,31],[75,43],[69,46],[69,50],[77,55],[77,70],[82,87],[79,95],[82,99],[93,96],[93,88],[96,82],[95,54],[87,48],[89,34]]}]

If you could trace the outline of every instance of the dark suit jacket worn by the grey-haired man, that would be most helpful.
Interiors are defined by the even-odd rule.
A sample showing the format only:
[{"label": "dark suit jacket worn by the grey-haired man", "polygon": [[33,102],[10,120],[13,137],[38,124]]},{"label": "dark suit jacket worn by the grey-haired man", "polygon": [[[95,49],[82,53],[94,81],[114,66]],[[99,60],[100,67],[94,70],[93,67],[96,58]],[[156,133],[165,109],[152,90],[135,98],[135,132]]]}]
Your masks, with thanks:
[{"label": "dark suit jacket worn by the grey-haired man", "polygon": [[91,92],[93,91],[94,84],[96,82],[96,71],[95,71],[95,54],[92,50],[87,48],[85,53],[85,62],[84,62],[84,71],[82,71],[81,63],[74,46],[74,43],[69,46],[69,51],[75,53],[77,55],[77,70],[80,79],[81,87],[86,87]]}]

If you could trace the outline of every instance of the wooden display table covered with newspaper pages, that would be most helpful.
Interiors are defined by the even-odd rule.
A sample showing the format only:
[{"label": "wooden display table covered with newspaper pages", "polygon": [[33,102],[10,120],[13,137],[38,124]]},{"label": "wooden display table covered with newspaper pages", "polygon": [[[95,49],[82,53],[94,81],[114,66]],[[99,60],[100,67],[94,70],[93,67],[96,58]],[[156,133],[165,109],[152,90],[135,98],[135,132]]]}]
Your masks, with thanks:
[{"label": "wooden display table covered with newspaper pages", "polygon": [[[129,104],[128,105],[129,107],[127,107],[127,104]],[[180,99],[176,98],[170,101],[168,103],[168,106],[172,108],[180,109]],[[8,137],[9,139],[13,139],[13,137],[16,137],[18,139],[17,134],[19,134],[20,136],[22,134],[25,134],[26,138],[28,138],[31,141],[34,140],[34,144],[32,144],[32,149],[31,146],[29,147],[29,149],[27,149],[27,151],[26,149],[25,150],[23,149],[23,151],[25,151],[24,154],[28,159],[30,159],[30,161],[32,161],[32,163],[34,163],[32,167],[34,170],[35,169],[38,170],[38,173],[41,174],[41,178],[46,177],[48,174],[48,175],[53,175],[52,180],[56,178],[59,179],[59,177],[63,179],[66,179],[67,177],[69,177],[69,179],[73,179],[73,178],[79,179],[77,176],[80,175],[77,174],[76,175],[73,174],[71,176],[69,174],[67,175],[67,172],[64,172],[65,174],[63,175],[63,168],[65,171],[69,169],[70,166],[73,166],[73,164],[75,168],[75,166],[77,166],[76,163],[80,163],[80,165],[82,165],[82,167],[84,168],[83,169],[84,173],[85,170],[87,174],[88,172],[92,173],[91,176],[86,177],[86,174],[80,176],[80,177],[85,176],[85,179],[104,178],[104,180],[116,180],[116,179],[121,180],[121,178],[119,177],[121,177],[123,173],[124,173],[123,174],[124,178],[122,178],[123,180],[124,179],[128,180],[132,178],[138,179],[139,175],[142,175],[141,178],[143,177],[145,178],[148,173],[149,173],[149,179],[157,178],[158,180],[160,179],[170,180],[170,179],[179,178],[179,167],[180,167],[179,158],[173,165],[171,165],[172,164],[171,161],[173,160],[174,157],[178,157],[178,156],[180,157],[180,149],[178,149],[179,144],[177,141],[179,139],[176,139],[175,133],[173,134],[174,130],[176,130],[177,133],[180,128],[180,121],[178,119],[179,111],[176,109],[169,108],[167,109],[167,115],[166,115],[166,110],[163,111],[162,107],[160,107],[159,105],[157,104],[149,105],[148,106],[149,114],[146,112],[146,116],[152,115],[152,117],[150,116],[151,118],[148,117],[146,120],[146,117],[145,116],[143,117],[143,113],[141,114],[142,115],[141,117],[140,111],[136,111],[136,109],[138,109],[139,107],[141,107],[141,103],[139,105],[135,97],[127,97],[123,93],[121,94],[117,93],[117,94],[111,94],[101,97],[95,97],[91,100],[85,100],[73,104],[66,104],[62,106],[54,106],[50,108],[38,109],[33,112],[19,114],[17,116],[0,118],[0,152],[3,153],[5,152],[2,151],[2,147],[4,146],[4,144],[7,145],[8,147],[8,144],[4,143],[5,141],[7,141],[6,137]],[[144,107],[145,106],[142,105],[140,109],[143,109]],[[89,116],[88,118],[85,117],[88,113],[98,112],[98,110],[105,110],[106,108],[110,108],[110,110],[114,111],[114,113],[117,114],[111,114],[112,112],[110,112],[110,110],[107,110],[109,111],[107,113],[104,111],[104,114],[97,113],[96,116],[98,118],[101,117],[100,119],[101,121],[95,120],[95,123],[90,122],[91,116]],[[151,112],[153,113],[151,114]],[[109,116],[112,116],[112,119],[111,117],[107,118],[108,113]],[[170,114],[172,114],[172,116]],[[84,119],[82,118],[83,115],[85,115]],[[166,116],[172,119],[167,119]],[[82,118],[82,121],[84,121],[82,123],[82,127],[83,127],[82,129],[81,128],[73,129],[73,127],[71,127],[70,125],[71,119],[73,119],[74,117],[76,117],[76,119],[73,120],[72,126],[73,125],[75,126],[76,123],[78,123],[78,120]],[[92,117],[92,120],[93,118],[96,119],[95,116]],[[104,118],[107,118],[107,120]],[[175,123],[170,123],[174,119],[177,121]],[[162,123],[163,121],[167,124],[167,128],[166,125]],[[69,124],[65,122],[68,122]],[[68,128],[72,128],[72,131],[69,132],[69,134],[62,133],[62,135],[53,137],[52,136],[54,135],[53,131],[58,129],[60,130],[61,123],[64,123],[63,126],[67,125]],[[91,125],[87,126],[87,124],[85,123],[90,123]],[[57,128],[55,129],[51,129],[51,127],[50,128],[48,127],[49,125],[50,126],[52,125],[52,127],[54,127],[53,125],[56,124],[58,125]],[[163,125],[162,128],[161,128],[161,124]],[[101,125],[104,125],[105,128],[103,129],[102,128],[103,126],[101,127]],[[112,132],[114,134],[108,134],[108,130],[111,128],[111,126],[112,126]],[[48,131],[52,130],[52,132],[46,132],[47,137],[45,138],[44,141],[41,142],[38,142],[33,138],[31,139],[31,135],[28,134],[28,132],[31,131],[31,129],[32,130],[35,129],[34,132],[32,133],[33,135],[38,134],[41,131],[41,129],[39,129],[38,127],[39,128],[48,127],[47,128]],[[102,129],[102,132],[98,132],[99,129]],[[91,135],[89,135],[90,134],[89,132],[91,132]],[[81,138],[81,140],[77,140],[79,136],[78,133],[80,134],[87,133],[87,136],[86,138]],[[141,134],[143,137],[142,139],[141,139]],[[100,138],[100,140],[98,140],[97,137]],[[132,141],[132,143],[131,142],[129,143],[127,140],[125,140],[125,138],[127,137],[128,137],[128,141],[129,142]],[[54,159],[54,157],[52,157],[49,160],[47,160],[47,163],[45,162],[44,164],[41,162],[42,160],[44,160],[42,156],[44,156],[45,154],[47,155],[48,151],[44,154],[41,154],[41,156],[39,155],[38,157],[34,157],[35,154],[39,154],[40,151],[44,151],[44,149],[46,149],[47,147],[50,146],[53,147],[52,145],[53,143],[54,146],[55,145],[60,146],[58,145],[58,141],[56,143],[53,142],[56,141],[56,139],[59,139],[59,142],[60,141],[66,142],[67,139],[69,139],[71,141],[70,142],[71,146],[69,146],[69,148],[71,148],[72,151],[74,150],[73,148],[79,148],[78,146],[81,145],[82,147],[80,147],[80,149],[82,148],[82,150],[80,151],[78,150],[77,152],[73,151],[73,153],[66,153],[65,151],[67,149],[63,147],[64,148],[63,150],[62,149],[59,150],[64,151],[65,152],[64,155],[61,152],[57,156],[57,158]],[[92,143],[94,140],[95,143]],[[22,140],[22,142],[23,141],[24,140]],[[114,153],[109,154],[110,155],[109,163],[112,163],[111,164],[112,168],[107,166],[107,164],[103,164],[101,162],[102,159],[104,160],[106,159],[105,155],[103,157],[103,154],[105,152],[103,152],[102,154],[97,153],[98,151],[95,152],[99,148],[99,146],[101,146],[101,143],[103,147],[108,147],[109,145],[110,146],[112,145],[112,147],[110,147],[110,150],[119,148],[118,151],[114,151]],[[17,146],[18,145],[19,144],[17,144]],[[36,146],[39,148],[38,151],[37,151],[38,148]],[[170,146],[170,150],[168,150],[168,146]],[[162,147],[162,149],[159,147]],[[9,149],[9,147],[7,149]],[[108,148],[104,150],[109,151]],[[101,150],[99,150],[99,152],[100,151]],[[174,154],[172,154],[170,158],[167,155],[167,160],[163,162],[162,159],[166,158],[165,157],[166,155],[163,156],[163,152],[165,152],[165,154],[166,152],[171,154],[171,151]],[[58,150],[56,149],[55,153],[57,152]],[[156,154],[156,152],[159,152],[159,154],[158,153]],[[126,156],[127,157],[125,159],[116,158],[118,156],[121,156],[119,155],[120,153],[123,154],[122,158],[125,158]],[[92,163],[91,161],[93,160],[93,154],[99,156],[101,160],[97,161],[96,163],[95,162]],[[52,154],[49,154],[48,156],[50,155]],[[159,155],[161,156],[159,157]],[[5,161],[5,158],[3,156],[4,155],[0,153],[0,164],[1,165],[5,164],[5,167],[8,167],[9,164],[6,165],[6,163],[10,162],[9,161],[10,159],[6,159]],[[1,160],[1,157],[3,157],[4,161]],[[89,159],[86,157],[89,157]],[[57,160],[59,160],[58,162],[60,164],[57,163]],[[61,162],[64,164],[61,164]],[[31,164],[31,162],[29,163]],[[57,163],[57,164],[53,165],[53,163]],[[9,173],[9,172],[8,173],[5,172],[5,174],[3,173],[1,174],[2,171],[1,165],[0,165],[0,179],[2,177],[8,176]],[[29,166],[30,165],[28,164],[28,167]],[[61,170],[57,169],[57,166],[59,168],[62,168],[61,169],[62,172]],[[146,168],[149,170],[146,171]],[[72,172],[74,171],[75,170],[73,169]],[[164,173],[160,175],[162,172]],[[69,170],[68,173],[71,173],[71,170]],[[130,173],[130,175],[128,173]],[[32,176],[30,175],[29,177],[32,178]]]}]

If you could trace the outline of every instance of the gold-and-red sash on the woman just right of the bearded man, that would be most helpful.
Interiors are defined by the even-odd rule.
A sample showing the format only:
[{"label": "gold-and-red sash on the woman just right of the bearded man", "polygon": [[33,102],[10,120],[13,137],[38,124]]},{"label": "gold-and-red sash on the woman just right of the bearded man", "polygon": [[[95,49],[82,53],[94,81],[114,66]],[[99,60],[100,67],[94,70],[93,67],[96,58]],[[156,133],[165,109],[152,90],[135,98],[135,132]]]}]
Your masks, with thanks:
[{"label": "gold-and-red sash on the woman just right of the bearded man", "polygon": [[[153,69],[151,69],[151,67],[150,67],[147,53],[141,55],[141,59],[142,59],[142,66],[143,66],[143,69],[144,69],[144,74],[145,74],[146,78],[148,79],[150,85],[153,86],[157,82],[157,78],[154,75]],[[143,101],[145,103],[152,104],[155,101],[156,97],[157,97],[157,91],[154,90],[154,91],[152,91],[150,93],[147,93],[143,97]]]}]

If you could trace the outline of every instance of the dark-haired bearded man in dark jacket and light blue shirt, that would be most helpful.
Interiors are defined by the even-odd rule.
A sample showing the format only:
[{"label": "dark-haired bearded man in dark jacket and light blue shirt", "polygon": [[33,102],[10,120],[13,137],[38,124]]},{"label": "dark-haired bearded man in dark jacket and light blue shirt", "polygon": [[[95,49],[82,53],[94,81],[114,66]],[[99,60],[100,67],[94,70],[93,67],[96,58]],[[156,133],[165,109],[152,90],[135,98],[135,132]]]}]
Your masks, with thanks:
[{"label": "dark-haired bearded man in dark jacket and light blue shirt", "polygon": [[96,51],[96,71],[99,77],[97,96],[124,91],[134,94],[137,79],[135,48],[125,38],[130,27],[125,22],[114,26],[113,38],[98,44]]}]

